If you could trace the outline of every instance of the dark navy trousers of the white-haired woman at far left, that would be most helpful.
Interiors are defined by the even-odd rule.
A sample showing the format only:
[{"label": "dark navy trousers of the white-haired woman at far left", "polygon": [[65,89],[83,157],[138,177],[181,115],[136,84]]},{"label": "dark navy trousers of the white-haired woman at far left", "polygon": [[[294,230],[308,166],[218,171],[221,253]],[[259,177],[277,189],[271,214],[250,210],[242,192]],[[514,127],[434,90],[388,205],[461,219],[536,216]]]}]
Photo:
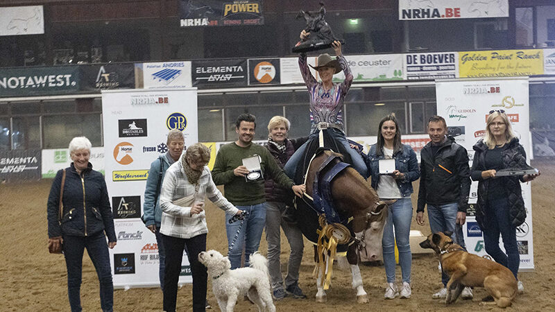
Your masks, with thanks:
[{"label": "dark navy trousers of the white-haired woman at far left", "polygon": [[67,295],[71,312],[82,311],[81,308],[81,276],[83,273],[83,251],[87,253],[96,268],[96,275],[100,284],[100,304],[102,311],[112,312],[114,305],[114,285],[112,284],[112,269],[110,268],[110,254],[104,231],[92,236],[63,235],[64,257],[67,268]]}]

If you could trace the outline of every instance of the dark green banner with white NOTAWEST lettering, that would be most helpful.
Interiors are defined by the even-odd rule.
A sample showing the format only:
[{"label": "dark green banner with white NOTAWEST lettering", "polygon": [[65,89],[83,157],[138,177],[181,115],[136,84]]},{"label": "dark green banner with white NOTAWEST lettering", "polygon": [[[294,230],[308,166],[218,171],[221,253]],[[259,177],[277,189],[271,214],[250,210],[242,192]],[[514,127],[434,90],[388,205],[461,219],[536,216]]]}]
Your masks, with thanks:
[{"label": "dark green banner with white NOTAWEST lettering", "polygon": [[77,66],[0,69],[0,97],[74,94],[78,91]]}]

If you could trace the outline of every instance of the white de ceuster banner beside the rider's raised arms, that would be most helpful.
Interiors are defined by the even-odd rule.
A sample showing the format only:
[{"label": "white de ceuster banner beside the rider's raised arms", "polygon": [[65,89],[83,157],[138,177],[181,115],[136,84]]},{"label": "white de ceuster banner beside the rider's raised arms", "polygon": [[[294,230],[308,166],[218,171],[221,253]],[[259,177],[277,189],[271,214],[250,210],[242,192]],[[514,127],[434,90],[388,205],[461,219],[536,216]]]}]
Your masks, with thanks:
[{"label": "white de ceuster banner beside the rider's raised arms", "polygon": [[[407,79],[402,54],[347,55],[345,59],[352,71],[353,83]],[[334,75],[336,83],[344,79],[343,71]]]}]

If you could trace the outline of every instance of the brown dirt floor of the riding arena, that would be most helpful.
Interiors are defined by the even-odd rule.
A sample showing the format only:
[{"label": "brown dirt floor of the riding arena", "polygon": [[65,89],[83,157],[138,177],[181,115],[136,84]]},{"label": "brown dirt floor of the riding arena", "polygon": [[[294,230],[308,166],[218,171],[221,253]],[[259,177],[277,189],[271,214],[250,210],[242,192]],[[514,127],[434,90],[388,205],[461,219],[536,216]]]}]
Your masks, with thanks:
[{"label": "brown dirt floor of the riding arena", "polygon": [[[521,272],[524,294],[518,295],[509,311],[553,311],[555,306],[555,162],[533,161],[542,175],[532,184],[533,199],[533,272]],[[69,311],[67,277],[62,256],[46,250],[46,198],[51,180],[27,184],[0,185],[0,211],[2,215],[0,238],[3,247],[0,266],[0,311]],[[413,194],[413,202],[416,196]],[[223,213],[213,206],[207,207],[210,228],[207,248],[223,254],[227,251]],[[412,229],[429,234],[429,225],[420,227],[415,222]],[[289,248],[282,234],[282,263],[287,261]],[[260,250],[266,254],[263,236]],[[438,261],[432,254],[414,255],[412,264],[412,297],[408,300],[384,300],[385,273],[383,266],[361,266],[364,286],[370,297],[369,304],[357,304],[350,284],[350,273],[334,270],[332,288],[327,292],[327,303],[317,304],[315,281],[311,277],[314,263],[313,251],[305,243],[300,286],[308,295],[306,300],[285,298],[275,302],[278,311],[489,311],[496,306],[483,306],[484,289],[475,289],[472,301],[458,300],[446,307],[439,300],[432,300],[432,293],[441,287]],[[83,286],[81,298],[84,311],[99,311],[99,283],[87,255],[83,261]],[[286,266],[282,265],[282,270]],[[400,276],[400,268],[398,277]],[[208,300],[217,311],[208,284]],[[114,291],[114,311],[161,311],[162,293],[159,288],[132,288]],[[191,311],[191,286],[183,286],[178,293],[178,311]],[[257,311],[248,302],[240,301],[236,311]]]}]

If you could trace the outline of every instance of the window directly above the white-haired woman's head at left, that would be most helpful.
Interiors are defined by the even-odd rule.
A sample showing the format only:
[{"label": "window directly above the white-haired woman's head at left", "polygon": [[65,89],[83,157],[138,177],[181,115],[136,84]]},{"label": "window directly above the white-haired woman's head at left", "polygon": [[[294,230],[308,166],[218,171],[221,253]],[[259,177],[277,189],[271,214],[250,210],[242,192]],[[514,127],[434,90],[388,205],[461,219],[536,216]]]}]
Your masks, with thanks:
[{"label": "window directly above the white-haired woman's head at left", "polygon": [[65,148],[74,137],[87,137],[92,146],[102,145],[100,114],[44,116],[44,147]]}]

